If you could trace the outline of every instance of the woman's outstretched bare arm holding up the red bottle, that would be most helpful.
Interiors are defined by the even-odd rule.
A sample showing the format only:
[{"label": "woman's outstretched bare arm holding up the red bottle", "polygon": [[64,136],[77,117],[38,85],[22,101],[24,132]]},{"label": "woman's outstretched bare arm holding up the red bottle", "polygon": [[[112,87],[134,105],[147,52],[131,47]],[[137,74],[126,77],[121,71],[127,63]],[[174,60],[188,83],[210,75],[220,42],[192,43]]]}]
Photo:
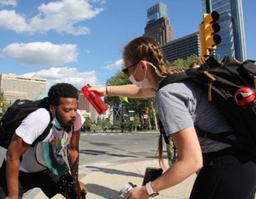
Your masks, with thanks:
[{"label": "woman's outstretched bare arm holding up the red bottle", "polygon": [[142,89],[136,85],[90,87],[88,90],[98,92],[100,95],[122,96],[129,98],[145,98],[156,96],[156,92],[152,91],[151,89]]}]

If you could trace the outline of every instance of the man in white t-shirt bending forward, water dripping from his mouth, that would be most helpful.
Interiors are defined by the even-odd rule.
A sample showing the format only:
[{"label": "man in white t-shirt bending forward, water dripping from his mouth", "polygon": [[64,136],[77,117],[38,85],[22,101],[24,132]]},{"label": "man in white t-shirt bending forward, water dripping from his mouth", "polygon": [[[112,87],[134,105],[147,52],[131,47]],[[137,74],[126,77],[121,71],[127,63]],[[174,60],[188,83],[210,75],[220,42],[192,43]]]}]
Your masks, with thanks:
[{"label": "man in white t-shirt bending forward, water dripping from his mouth", "polygon": [[[65,198],[81,198],[81,193],[87,192],[78,181],[78,144],[85,122],[78,110],[78,90],[68,83],[58,83],[50,87],[48,99],[50,112],[37,109],[14,133],[0,168],[0,198],[22,198],[23,193],[36,187],[48,198],[57,193]],[[53,125],[41,143],[51,150],[43,148],[43,153],[35,156],[35,147],[30,146],[50,121]]]}]

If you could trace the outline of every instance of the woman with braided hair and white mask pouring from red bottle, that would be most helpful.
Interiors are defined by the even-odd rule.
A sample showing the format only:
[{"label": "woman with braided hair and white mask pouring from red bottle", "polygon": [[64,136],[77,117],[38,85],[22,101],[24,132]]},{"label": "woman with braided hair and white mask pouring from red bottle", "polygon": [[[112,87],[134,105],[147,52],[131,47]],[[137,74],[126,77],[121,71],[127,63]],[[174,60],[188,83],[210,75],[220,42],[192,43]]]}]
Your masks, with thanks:
[{"label": "woman with braided hair and white mask pouring from red bottle", "polygon": [[[159,87],[166,75],[174,74],[166,64],[161,47],[146,37],[134,38],[124,46],[125,68],[133,85],[92,87],[103,95],[154,97],[156,109],[167,136],[178,151],[178,161],[162,176],[146,186],[132,188],[126,198],[149,198],[201,169],[191,192],[197,198],[255,198],[256,166],[252,161],[241,163],[239,155],[228,144],[198,137],[194,126],[220,133],[231,131],[222,114],[201,87],[190,80]],[[233,136],[234,138],[234,136]],[[203,152],[203,156],[202,156]]]}]

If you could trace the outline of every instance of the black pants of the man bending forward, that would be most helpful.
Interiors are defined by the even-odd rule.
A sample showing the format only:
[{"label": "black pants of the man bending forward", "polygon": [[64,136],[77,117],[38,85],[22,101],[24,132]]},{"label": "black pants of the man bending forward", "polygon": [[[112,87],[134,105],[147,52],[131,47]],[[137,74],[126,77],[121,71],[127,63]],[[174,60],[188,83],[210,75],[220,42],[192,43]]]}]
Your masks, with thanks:
[{"label": "black pants of the man bending forward", "polygon": [[[48,169],[36,173],[19,171],[18,198],[22,198],[23,194],[32,188],[41,188],[48,198],[52,198],[58,193],[65,198],[78,198],[73,190],[70,173],[64,176],[55,176]],[[4,161],[0,168],[0,199],[5,198],[7,193],[6,161]]]}]

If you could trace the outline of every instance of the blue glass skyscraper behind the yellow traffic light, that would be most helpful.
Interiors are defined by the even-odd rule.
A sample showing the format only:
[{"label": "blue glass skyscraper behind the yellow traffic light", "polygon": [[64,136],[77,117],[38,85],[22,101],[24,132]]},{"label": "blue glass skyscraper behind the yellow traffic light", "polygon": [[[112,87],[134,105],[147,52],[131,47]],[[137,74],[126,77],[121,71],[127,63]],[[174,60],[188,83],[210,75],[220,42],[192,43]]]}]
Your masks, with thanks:
[{"label": "blue glass skyscraper behind the yellow traffic light", "polygon": [[[216,54],[223,58],[230,55],[240,61],[247,59],[245,28],[242,14],[242,0],[211,0],[212,11],[220,14],[220,32],[222,41]],[[203,12],[206,13],[206,0],[202,0]]]}]

